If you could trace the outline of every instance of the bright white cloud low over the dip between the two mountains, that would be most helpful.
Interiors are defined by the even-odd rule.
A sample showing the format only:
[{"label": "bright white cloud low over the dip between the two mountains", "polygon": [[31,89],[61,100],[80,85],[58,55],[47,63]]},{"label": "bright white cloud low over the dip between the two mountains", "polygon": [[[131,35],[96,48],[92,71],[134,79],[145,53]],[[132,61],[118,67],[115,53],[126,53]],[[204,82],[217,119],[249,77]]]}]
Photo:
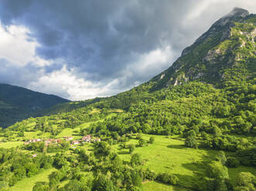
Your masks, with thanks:
[{"label": "bright white cloud low over the dip between the two mountains", "polygon": [[62,95],[71,100],[84,100],[119,92],[120,89],[117,92],[112,89],[117,83],[118,79],[108,83],[95,83],[78,78],[75,69],[68,70],[64,65],[59,71],[43,75],[37,81],[29,83],[28,88],[49,94]]}]

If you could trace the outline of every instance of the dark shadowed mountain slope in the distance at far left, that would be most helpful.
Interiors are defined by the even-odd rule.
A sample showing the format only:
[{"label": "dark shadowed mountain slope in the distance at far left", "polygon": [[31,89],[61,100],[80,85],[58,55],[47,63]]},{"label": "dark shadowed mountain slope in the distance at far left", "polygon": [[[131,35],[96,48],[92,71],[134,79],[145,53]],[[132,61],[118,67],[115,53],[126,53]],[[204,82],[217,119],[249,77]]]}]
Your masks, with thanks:
[{"label": "dark shadowed mountain slope in the distance at far left", "polygon": [[0,84],[0,126],[36,116],[37,112],[64,102],[70,101],[15,85]]}]

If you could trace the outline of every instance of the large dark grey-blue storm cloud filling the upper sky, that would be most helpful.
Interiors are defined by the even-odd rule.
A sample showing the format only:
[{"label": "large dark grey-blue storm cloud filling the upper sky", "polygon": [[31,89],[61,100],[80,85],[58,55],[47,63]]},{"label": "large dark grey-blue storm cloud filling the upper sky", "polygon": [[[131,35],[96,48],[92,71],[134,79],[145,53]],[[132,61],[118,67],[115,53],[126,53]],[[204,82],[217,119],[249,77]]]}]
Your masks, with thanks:
[{"label": "large dark grey-blue storm cloud filling the upper sky", "polygon": [[[191,1],[15,1],[4,0],[4,25],[25,25],[43,59],[64,59],[68,66],[97,72],[101,79],[119,75],[132,59],[162,48],[175,49],[173,28],[192,7]],[[182,38],[182,35],[178,37]],[[166,41],[170,39],[170,41]],[[97,79],[98,80],[98,79]]]}]

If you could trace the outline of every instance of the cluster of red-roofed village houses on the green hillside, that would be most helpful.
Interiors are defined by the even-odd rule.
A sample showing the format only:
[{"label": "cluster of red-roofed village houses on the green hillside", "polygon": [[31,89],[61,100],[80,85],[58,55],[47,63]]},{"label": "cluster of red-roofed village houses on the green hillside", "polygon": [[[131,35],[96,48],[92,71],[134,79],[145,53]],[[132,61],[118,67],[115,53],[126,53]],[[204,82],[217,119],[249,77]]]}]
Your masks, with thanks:
[{"label": "cluster of red-roofed village houses on the green hillside", "polygon": [[65,141],[70,141],[70,146],[76,146],[81,143],[90,143],[90,142],[101,142],[100,138],[87,135],[83,136],[82,139],[74,140],[72,136],[64,136],[63,139],[30,139],[29,141],[24,142],[24,145],[29,145],[32,142],[45,142],[45,146],[49,146],[50,144],[57,144]]}]

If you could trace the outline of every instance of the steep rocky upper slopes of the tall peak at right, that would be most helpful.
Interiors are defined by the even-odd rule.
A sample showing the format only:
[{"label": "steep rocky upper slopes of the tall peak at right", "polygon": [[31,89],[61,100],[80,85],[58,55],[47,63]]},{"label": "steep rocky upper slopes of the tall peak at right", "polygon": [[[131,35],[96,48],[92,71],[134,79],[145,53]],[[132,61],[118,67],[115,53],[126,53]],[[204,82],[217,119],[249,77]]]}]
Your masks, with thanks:
[{"label": "steep rocky upper slopes of the tall peak at right", "polygon": [[[193,45],[183,50],[169,69],[155,76],[152,90],[189,80],[220,83],[234,66],[255,61],[256,15],[242,8],[215,22]],[[252,60],[252,61],[251,61]]]}]

